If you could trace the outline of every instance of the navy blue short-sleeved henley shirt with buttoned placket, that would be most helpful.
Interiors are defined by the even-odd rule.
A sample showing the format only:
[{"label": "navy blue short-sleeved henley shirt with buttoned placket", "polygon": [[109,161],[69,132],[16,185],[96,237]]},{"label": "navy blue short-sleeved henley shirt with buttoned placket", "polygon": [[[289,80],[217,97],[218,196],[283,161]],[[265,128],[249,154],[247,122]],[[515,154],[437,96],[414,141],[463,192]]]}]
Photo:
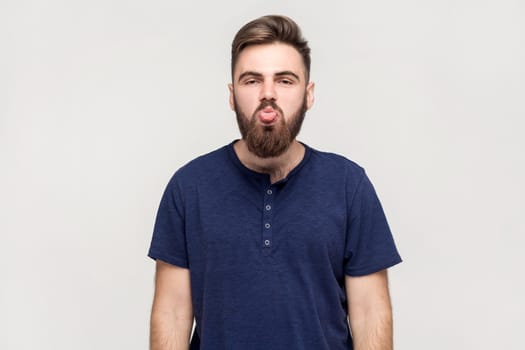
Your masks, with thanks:
[{"label": "navy blue short-sleeved henley shirt with buttoned placket", "polygon": [[192,349],[352,349],[345,275],[401,258],[364,170],[305,148],[274,184],[233,143],[170,180],[149,256],[190,270]]}]

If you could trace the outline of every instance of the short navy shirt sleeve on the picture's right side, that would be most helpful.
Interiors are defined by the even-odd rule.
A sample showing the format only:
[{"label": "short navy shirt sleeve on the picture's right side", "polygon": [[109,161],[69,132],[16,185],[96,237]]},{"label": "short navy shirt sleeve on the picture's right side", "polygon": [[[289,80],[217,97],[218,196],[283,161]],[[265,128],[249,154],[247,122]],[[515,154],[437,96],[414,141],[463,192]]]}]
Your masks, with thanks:
[{"label": "short navy shirt sleeve on the picture's right side", "polygon": [[368,275],[400,263],[385,214],[372,183],[363,177],[353,193],[346,232],[344,269],[350,276]]}]

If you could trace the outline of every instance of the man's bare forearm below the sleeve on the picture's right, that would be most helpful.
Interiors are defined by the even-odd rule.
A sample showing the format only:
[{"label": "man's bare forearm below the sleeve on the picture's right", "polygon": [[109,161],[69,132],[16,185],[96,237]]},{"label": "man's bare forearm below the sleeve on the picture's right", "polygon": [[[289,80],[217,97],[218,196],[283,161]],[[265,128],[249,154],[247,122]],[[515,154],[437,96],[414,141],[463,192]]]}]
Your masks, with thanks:
[{"label": "man's bare forearm below the sleeve on the picture's right", "polygon": [[346,276],[348,319],[355,350],[392,350],[392,307],[386,270]]}]

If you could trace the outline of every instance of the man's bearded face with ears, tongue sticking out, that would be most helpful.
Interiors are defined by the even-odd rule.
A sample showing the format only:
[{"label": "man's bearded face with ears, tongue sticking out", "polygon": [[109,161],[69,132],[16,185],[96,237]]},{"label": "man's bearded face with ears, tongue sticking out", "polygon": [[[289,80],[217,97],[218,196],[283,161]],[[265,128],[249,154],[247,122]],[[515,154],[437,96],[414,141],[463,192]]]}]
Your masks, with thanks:
[{"label": "man's bearded face with ears, tongue sticking out", "polygon": [[239,55],[229,85],[230,106],[248,150],[261,158],[283,154],[313,104],[299,52],[290,45],[253,45]]}]

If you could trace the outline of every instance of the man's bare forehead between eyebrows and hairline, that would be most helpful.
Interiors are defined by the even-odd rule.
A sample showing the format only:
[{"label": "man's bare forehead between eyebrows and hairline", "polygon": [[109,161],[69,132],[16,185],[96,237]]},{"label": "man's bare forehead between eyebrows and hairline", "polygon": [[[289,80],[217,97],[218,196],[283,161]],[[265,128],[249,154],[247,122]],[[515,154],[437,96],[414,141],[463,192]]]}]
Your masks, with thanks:
[{"label": "man's bare forehead between eyebrows and hairline", "polygon": [[278,42],[251,45],[242,50],[235,64],[234,77],[248,71],[263,75],[291,71],[303,77],[306,73],[299,52],[291,45]]}]

